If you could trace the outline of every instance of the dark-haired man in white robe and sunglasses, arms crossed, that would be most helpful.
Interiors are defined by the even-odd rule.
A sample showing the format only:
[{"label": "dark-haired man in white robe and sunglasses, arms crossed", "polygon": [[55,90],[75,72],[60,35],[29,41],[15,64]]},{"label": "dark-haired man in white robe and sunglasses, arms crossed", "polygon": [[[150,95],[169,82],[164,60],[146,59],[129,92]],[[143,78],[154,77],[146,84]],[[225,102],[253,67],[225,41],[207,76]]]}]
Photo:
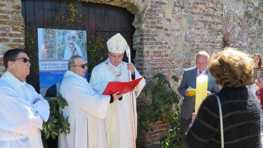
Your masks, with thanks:
[{"label": "dark-haired man in white robe and sunglasses, arms crossed", "polygon": [[39,129],[49,117],[49,104],[25,82],[30,72],[24,49],[4,54],[6,72],[0,78],[0,147],[43,148]]}]

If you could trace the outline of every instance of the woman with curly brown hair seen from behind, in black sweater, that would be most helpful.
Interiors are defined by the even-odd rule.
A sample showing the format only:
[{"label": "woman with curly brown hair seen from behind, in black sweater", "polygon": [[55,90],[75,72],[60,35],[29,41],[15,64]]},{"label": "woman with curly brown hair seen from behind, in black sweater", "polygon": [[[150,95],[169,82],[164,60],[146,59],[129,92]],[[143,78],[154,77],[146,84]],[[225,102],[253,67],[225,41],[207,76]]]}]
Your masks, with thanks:
[{"label": "woman with curly brown hair seen from behind, in black sweater", "polygon": [[[219,97],[225,148],[262,148],[262,111],[258,99],[246,88],[253,80],[253,59],[234,48],[224,48],[210,58],[209,72],[223,89]],[[208,96],[193,113],[184,137],[187,148],[220,148],[218,101]]]}]

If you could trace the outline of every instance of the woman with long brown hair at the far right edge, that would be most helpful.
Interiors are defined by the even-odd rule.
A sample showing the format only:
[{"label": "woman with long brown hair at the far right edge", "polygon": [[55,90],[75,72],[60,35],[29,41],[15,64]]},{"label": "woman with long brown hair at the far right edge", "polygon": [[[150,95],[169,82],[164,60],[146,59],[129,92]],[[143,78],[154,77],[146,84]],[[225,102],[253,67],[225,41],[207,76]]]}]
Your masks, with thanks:
[{"label": "woman with long brown hair at the far right edge", "polygon": [[255,93],[257,91],[257,86],[255,84],[257,80],[257,71],[260,71],[260,74],[262,74],[262,58],[260,54],[254,54],[252,58],[254,58],[255,62],[254,77],[252,83],[248,86],[248,88]]}]

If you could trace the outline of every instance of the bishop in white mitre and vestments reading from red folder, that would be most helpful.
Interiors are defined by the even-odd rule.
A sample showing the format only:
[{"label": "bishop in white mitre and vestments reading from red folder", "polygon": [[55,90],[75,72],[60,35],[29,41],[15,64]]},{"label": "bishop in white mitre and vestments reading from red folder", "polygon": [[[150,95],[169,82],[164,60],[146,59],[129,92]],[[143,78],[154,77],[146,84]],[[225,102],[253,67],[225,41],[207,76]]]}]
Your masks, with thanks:
[{"label": "bishop in white mitre and vestments reading from red folder", "polygon": [[[95,91],[102,94],[108,82],[129,82],[129,70],[132,72],[133,80],[142,77],[134,67],[133,63],[122,61],[126,45],[127,42],[120,33],[117,33],[108,40],[108,59],[95,66],[91,73],[90,84]],[[136,89],[132,91],[135,136],[137,134],[136,98],[145,84],[145,79],[143,78],[137,85]],[[131,110],[132,104],[130,93],[123,94],[122,100],[119,99],[114,101],[108,107],[108,112],[104,119],[108,148],[133,147],[133,123]]]}]

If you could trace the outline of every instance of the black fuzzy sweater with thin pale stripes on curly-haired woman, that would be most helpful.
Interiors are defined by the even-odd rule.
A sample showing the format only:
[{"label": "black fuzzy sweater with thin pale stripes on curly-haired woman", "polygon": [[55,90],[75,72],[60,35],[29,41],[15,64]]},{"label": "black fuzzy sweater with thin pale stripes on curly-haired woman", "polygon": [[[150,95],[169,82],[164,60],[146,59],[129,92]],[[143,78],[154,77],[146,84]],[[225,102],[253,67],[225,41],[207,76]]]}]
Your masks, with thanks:
[{"label": "black fuzzy sweater with thin pale stripes on curly-haired woman", "polygon": [[[221,102],[225,148],[262,148],[262,110],[246,87],[218,92]],[[187,148],[221,148],[220,119],[215,95],[208,96],[184,137]]]}]

